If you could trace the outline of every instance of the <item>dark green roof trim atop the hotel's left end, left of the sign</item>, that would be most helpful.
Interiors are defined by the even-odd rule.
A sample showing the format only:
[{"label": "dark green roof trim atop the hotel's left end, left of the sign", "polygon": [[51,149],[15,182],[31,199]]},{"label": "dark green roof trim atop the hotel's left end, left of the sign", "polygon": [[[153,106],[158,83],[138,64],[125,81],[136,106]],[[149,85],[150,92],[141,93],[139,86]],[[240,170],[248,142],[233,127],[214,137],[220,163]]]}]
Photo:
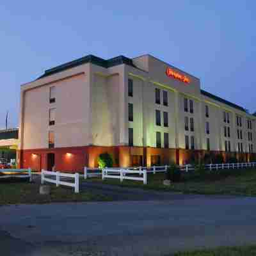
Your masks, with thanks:
[{"label": "dark green roof trim atop the hotel's left end, left of the sign", "polygon": [[85,56],[83,58],[79,58],[77,60],[67,62],[65,64],[62,64],[62,65],[58,66],[58,67],[47,69],[47,70],[45,70],[44,75],[38,77],[38,79],[43,78],[43,77],[47,77],[47,76],[51,76],[53,74],[65,71],[69,68],[74,68],[74,67],[77,67],[79,65],[86,64],[86,63],[92,63],[92,64],[95,64],[95,65],[98,65],[98,66],[104,67],[104,68],[110,68],[110,67],[114,67],[114,66],[121,65],[121,64],[130,65],[130,66],[136,68],[136,66],[134,66],[134,64],[132,63],[131,59],[129,59],[125,56],[122,56],[122,55],[118,56],[118,57],[115,57],[115,58],[111,58],[109,60],[104,60],[104,59],[99,58],[99,57],[94,56],[94,55],[88,55],[88,56]]}]

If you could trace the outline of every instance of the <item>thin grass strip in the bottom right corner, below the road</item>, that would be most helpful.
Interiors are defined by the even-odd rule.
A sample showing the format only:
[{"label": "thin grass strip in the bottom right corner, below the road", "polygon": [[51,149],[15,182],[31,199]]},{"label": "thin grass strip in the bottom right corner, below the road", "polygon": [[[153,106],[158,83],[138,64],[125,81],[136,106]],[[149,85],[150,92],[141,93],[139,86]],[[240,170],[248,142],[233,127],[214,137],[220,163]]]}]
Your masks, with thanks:
[{"label": "thin grass strip in the bottom right corner, below the road", "polygon": [[256,246],[219,247],[195,252],[180,252],[173,256],[255,256]]}]

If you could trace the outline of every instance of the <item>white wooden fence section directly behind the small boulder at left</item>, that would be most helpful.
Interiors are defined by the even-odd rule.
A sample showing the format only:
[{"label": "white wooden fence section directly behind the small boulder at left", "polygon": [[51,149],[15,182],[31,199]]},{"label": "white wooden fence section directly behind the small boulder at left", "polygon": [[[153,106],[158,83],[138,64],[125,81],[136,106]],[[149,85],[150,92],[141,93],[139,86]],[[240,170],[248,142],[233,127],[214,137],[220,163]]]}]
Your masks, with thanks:
[{"label": "white wooden fence section directly behind the small boulder at left", "polygon": [[[60,185],[68,186],[68,187],[75,188],[75,193],[79,193],[79,173],[72,174],[72,173],[61,173],[61,172],[49,172],[49,171],[42,170],[41,175],[42,175],[42,184],[44,184],[44,182],[47,181],[47,182],[56,184],[57,187]],[[56,178],[49,179],[45,177],[46,175],[55,176]],[[60,180],[61,177],[74,178],[75,183]]]}]

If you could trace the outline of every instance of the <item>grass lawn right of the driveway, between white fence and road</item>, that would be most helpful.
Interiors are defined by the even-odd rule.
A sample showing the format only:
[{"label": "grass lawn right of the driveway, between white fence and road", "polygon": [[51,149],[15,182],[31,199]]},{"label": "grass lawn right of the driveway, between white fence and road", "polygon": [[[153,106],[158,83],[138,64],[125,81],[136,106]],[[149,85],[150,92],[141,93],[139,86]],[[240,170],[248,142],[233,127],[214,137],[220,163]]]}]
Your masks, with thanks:
[{"label": "grass lawn right of the driveway, between white fence and road", "polygon": [[140,181],[118,179],[92,179],[97,182],[116,184],[118,186],[157,189],[163,191],[179,191],[204,195],[248,195],[256,196],[256,169],[220,170],[207,173],[204,177],[195,174],[183,175],[182,182],[164,186],[164,173],[148,174],[148,184]]}]

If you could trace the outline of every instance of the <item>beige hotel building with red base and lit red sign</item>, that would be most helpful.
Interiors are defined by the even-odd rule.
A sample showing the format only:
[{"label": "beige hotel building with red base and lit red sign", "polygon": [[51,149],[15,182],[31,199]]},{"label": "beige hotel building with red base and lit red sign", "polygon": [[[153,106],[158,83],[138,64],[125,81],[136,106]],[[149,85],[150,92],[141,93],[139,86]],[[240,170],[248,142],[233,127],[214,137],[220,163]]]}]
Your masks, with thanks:
[{"label": "beige hotel building with red base and lit red sign", "polygon": [[255,157],[255,119],[200,79],[150,55],[86,56],[46,70],[20,93],[18,163],[35,170]]}]

